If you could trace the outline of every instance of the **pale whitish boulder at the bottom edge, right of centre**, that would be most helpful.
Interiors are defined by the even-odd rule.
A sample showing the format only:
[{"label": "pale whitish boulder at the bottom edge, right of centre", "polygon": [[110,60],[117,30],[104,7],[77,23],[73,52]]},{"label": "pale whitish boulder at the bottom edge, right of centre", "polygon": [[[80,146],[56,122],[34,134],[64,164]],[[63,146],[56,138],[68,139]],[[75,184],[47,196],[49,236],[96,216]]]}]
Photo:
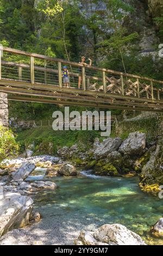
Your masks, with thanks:
[{"label": "pale whitish boulder at the bottom edge, right of centre", "polygon": [[81,231],[76,245],[146,245],[139,235],[121,224],[105,224],[95,232]]}]

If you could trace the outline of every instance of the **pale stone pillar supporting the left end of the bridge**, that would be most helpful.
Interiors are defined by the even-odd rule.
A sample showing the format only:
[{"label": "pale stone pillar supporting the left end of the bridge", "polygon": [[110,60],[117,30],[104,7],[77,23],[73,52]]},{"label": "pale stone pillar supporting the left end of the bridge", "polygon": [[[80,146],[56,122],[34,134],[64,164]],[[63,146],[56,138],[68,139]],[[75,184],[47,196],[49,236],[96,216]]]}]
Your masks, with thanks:
[{"label": "pale stone pillar supporting the left end of the bridge", "polygon": [[0,93],[0,125],[9,126],[7,94]]}]

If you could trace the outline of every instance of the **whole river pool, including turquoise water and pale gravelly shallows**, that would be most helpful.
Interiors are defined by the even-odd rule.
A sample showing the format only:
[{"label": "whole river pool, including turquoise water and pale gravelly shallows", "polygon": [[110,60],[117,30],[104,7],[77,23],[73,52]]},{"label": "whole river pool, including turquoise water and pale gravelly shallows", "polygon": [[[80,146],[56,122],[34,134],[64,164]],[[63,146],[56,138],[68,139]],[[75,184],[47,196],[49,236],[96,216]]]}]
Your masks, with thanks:
[{"label": "whole river pool, including turquoise water and pale gravelly shallows", "polygon": [[[94,230],[106,223],[120,223],[149,245],[163,245],[162,239],[156,239],[149,232],[162,216],[163,199],[142,192],[139,178],[95,176],[84,171],[78,177],[50,180],[58,188],[40,191],[34,198],[35,209],[43,216],[37,227],[43,229],[44,234],[46,229],[52,233],[52,241],[47,238],[47,243],[73,244],[81,229]],[[58,237],[54,239],[54,236]]]}]

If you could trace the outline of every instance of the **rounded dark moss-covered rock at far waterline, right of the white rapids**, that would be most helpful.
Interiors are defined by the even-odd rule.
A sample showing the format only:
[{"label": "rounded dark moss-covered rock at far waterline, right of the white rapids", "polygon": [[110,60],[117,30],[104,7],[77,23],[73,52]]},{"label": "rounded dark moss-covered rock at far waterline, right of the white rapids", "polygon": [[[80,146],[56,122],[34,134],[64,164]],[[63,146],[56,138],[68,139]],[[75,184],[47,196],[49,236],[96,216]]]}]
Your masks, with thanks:
[{"label": "rounded dark moss-covered rock at far waterline, right of the white rapids", "polygon": [[116,167],[109,161],[99,160],[95,165],[95,174],[97,175],[108,175],[108,176],[118,176],[119,173]]}]

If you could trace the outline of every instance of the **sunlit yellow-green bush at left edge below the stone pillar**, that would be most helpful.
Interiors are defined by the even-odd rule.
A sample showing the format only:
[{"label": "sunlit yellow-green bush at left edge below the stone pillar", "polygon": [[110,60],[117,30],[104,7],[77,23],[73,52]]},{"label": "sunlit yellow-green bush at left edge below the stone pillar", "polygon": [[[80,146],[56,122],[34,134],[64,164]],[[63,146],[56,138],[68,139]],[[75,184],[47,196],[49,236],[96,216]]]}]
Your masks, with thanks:
[{"label": "sunlit yellow-green bush at left edge below the stone pillar", "polygon": [[15,155],[19,146],[11,130],[0,126],[0,161],[6,157]]}]

